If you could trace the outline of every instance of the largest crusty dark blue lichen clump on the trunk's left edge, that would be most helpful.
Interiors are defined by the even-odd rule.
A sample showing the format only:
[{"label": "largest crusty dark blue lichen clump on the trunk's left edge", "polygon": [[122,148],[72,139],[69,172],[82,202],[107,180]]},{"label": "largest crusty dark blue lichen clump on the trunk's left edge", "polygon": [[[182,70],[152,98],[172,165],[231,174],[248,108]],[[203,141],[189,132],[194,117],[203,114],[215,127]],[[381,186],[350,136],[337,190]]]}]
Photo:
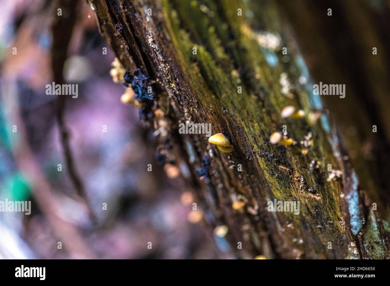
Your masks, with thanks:
[{"label": "largest crusty dark blue lichen clump on the trunk's left edge", "polygon": [[140,68],[134,70],[133,74],[131,74],[129,68],[126,68],[123,78],[124,85],[131,86],[131,88],[133,88],[135,92],[135,99],[141,102],[145,100],[153,100],[153,91],[148,93],[148,77],[141,72]]}]

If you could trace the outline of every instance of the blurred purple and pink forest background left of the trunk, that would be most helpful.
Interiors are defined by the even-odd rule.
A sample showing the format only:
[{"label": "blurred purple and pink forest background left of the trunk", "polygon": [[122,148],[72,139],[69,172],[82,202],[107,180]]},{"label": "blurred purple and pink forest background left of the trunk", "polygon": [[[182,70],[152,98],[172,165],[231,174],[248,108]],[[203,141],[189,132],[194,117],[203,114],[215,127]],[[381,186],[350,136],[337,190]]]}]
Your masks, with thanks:
[{"label": "blurred purple and pink forest background left of the trunk", "polygon": [[0,200],[30,200],[32,213],[0,212],[0,258],[226,258],[200,211],[191,213],[196,198],[184,184],[184,163],[159,166],[151,128],[136,107],[121,103],[125,88],[109,74],[114,55],[81,1],[64,67],[66,82],[78,84],[78,98],[66,99],[65,122],[97,217],[92,223],[68,174],[55,96],[45,92],[53,81],[54,3],[1,2]]}]

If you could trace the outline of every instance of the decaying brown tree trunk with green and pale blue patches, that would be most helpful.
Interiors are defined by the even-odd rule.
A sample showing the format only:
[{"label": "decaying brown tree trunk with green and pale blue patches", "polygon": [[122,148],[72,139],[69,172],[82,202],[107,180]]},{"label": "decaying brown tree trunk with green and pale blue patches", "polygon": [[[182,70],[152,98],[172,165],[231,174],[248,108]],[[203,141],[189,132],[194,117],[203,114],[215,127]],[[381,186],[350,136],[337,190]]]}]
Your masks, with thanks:
[{"label": "decaying brown tree trunk with green and pale blue patches", "polygon": [[[89,3],[122,65],[130,72],[140,68],[148,77],[154,101],[152,105],[144,102],[140,113],[150,118],[156,108],[164,111],[169,133],[161,135],[161,146],[166,156],[186,158],[191,170],[188,183],[197,187],[198,209],[209,225],[228,226],[218,245],[227,241],[230,249],[226,251],[238,258],[259,254],[266,258],[389,258],[389,165],[381,161],[390,158],[386,127],[390,108],[384,100],[389,91],[388,68],[381,65],[388,63],[388,56],[369,60],[372,47],[379,49],[388,37],[374,33],[372,39],[362,36],[360,41],[354,35],[360,45],[341,49],[340,53],[367,53],[356,54],[356,61],[364,59],[364,65],[378,64],[384,70],[379,84],[375,75],[354,77],[338,66],[339,47],[328,42],[321,23],[327,8],[333,8],[335,19],[342,18],[343,8],[349,18],[337,29],[346,33],[351,23],[359,22],[363,4],[356,4],[354,10],[348,2],[342,8],[280,2]],[[323,15],[317,15],[318,11]],[[364,28],[369,24],[359,23]],[[298,35],[305,58],[318,59],[310,67],[315,82],[288,28]],[[336,26],[332,29],[337,33]],[[283,47],[287,54],[282,53]],[[364,65],[357,72],[365,72]],[[323,97],[334,122],[312,92],[312,85],[319,81],[347,86],[346,98]],[[283,119],[280,112],[287,105],[303,109],[305,118]],[[179,134],[178,124],[186,120],[211,123],[213,134],[225,134],[234,151],[222,153],[202,134]],[[284,125],[297,144],[270,144],[271,133],[282,131]],[[378,126],[377,133],[372,133],[372,125]],[[358,135],[348,133],[351,128]],[[275,198],[299,201],[300,214],[269,212],[267,203]],[[233,209],[237,200],[245,207]]]}]

